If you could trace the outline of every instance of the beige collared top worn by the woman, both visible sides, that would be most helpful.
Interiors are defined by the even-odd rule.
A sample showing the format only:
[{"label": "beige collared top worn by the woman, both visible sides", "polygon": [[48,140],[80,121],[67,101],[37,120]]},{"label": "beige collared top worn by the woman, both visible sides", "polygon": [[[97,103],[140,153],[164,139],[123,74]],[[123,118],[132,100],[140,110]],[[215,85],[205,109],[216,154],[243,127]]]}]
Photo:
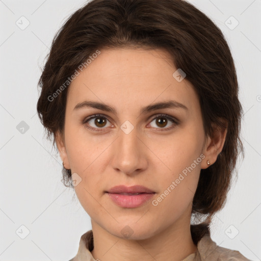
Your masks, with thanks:
[{"label": "beige collared top worn by the woman, both visible sides", "polygon": [[[76,256],[69,261],[96,261],[92,256],[93,233],[92,230],[84,233],[80,240]],[[217,246],[210,236],[204,236],[197,244],[197,251],[181,261],[251,261],[239,251]]]}]

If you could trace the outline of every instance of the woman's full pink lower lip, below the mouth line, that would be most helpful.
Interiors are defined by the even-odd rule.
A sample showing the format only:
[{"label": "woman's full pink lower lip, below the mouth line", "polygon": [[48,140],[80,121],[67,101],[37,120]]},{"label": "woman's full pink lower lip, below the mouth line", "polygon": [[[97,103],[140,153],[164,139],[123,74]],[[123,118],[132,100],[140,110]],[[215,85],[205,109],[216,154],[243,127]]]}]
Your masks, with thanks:
[{"label": "woman's full pink lower lip, below the mouth line", "polygon": [[122,195],[108,192],[107,194],[118,206],[127,208],[141,206],[154,195],[154,193],[142,193],[139,195]]}]

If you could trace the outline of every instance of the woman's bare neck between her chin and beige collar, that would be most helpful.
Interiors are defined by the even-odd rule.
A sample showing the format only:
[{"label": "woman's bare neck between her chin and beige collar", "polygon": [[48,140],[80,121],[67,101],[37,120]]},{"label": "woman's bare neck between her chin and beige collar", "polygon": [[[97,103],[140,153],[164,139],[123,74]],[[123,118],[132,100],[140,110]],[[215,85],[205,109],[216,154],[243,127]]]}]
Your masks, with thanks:
[{"label": "woman's bare neck between her chin and beige collar", "polygon": [[155,232],[153,236],[142,240],[116,237],[93,220],[92,230],[94,249],[91,253],[96,260],[180,261],[197,250],[191,237],[190,220],[187,224],[180,224],[177,221],[161,232]]}]

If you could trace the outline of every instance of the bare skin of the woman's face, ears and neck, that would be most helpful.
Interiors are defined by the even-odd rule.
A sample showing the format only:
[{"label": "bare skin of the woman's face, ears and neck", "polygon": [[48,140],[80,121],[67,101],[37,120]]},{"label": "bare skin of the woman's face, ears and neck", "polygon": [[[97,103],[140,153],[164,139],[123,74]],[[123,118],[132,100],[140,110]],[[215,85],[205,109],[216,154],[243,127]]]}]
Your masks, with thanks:
[{"label": "bare skin of the woman's face, ears and neck", "polygon": [[[74,189],[91,217],[91,253],[102,261],[182,260],[197,250],[190,217],[200,169],[208,167],[207,160],[211,164],[216,161],[226,130],[217,128],[215,136],[205,136],[198,96],[186,77],[181,82],[174,79],[172,74],[177,68],[167,51],[100,51],[71,83],[64,135],[57,135],[64,167],[82,179]],[[140,114],[141,108],[169,99],[188,109],[165,108]],[[85,100],[106,103],[115,108],[117,115],[90,107],[73,110]],[[106,123],[95,124],[94,119],[84,123],[95,114],[106,117]],[[159,124],[159,114],[172,116],[179,123],[164,117],[167,125]],[[126,120],[134,127],[129,134],[120,128]],[[91,131],[87,126],[101,131]],[[204,159],[164,200],[152,205],[151,201],[164,193],[200,154]],[[142,206],[124,208],[105,193],[116,185],[143,185],[155,194]],[[121,233],[125,226],[133,231],[130,238]]]}]

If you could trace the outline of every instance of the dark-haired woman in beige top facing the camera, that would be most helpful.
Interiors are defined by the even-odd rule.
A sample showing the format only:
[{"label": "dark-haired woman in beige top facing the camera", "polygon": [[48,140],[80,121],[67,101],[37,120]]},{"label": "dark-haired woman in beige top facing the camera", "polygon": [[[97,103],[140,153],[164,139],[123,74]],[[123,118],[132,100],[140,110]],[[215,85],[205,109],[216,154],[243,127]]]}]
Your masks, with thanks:
[{"label": "dark-haired woman in beige top facing the camera", "polygon": [[222,32],[181,0],[93,0],[55,36],[38,115],[91,217],[71,260],[249,260],[210,237],[242,107]]}]

